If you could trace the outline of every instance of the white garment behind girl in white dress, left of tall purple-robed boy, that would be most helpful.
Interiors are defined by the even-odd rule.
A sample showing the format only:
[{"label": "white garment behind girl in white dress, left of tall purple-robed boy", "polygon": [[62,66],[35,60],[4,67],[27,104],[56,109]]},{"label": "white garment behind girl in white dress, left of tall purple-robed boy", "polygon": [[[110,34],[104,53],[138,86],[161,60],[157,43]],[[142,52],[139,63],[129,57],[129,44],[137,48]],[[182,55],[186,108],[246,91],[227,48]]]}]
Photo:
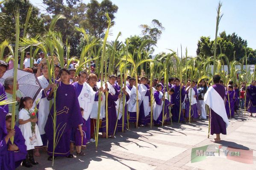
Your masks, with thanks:
[{"label": "white garment behind girl in white dress, left of tall purple-robed boy", "polygon": [[49,82],[47,81],[47,79],[44,76],[39,76],[38,81],[43,89],[36,96],[32,108],[35,108],[36,101],[38,99],[40,99],[39,108],[38,108],[37,126],[38,126],[40,135],[43,135],[45,133],[44,127],[45,127],[46,121],[48,119],[48,114],[50,113],[50,101],[48,101],[46,97],[44,97],[43,99],[41,99],[41,98],[42,98],[42,93],[44,93],[44,88],[48,87]]}]

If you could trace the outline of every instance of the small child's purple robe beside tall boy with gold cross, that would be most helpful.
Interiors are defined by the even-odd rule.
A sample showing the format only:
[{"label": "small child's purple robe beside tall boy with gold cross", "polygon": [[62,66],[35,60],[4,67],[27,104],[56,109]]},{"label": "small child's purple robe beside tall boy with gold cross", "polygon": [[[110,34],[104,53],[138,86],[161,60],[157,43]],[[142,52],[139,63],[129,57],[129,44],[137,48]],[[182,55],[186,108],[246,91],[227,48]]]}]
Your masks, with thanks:
[{"label": "small child's purple robe beside tall boy with gold cross", "polygon": [[[84,136],[81,137],[81,133],[80,133],[79,127],[77,126],[75,128],[75,145],[76,146],[86,146],[86,142],[87,142],[87,139],[86,139],[87,137],[86,137],[86,134],[85,134],[85,132],[87,131],[86,125],[85,125],[86,121],[85,121],[84,118],[82,118],[82,120],[83,120],[82,131],[84,133]],[[90,120],[90,119],[88,119],[88,120]]]}]

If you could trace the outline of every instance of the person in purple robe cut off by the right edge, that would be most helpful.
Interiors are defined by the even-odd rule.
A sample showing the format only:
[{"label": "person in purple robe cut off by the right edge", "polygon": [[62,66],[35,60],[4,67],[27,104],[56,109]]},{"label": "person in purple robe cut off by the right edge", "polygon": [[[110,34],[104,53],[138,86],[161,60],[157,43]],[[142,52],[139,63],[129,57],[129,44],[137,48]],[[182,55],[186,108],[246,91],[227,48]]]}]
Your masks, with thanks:
[{"label": "person in purple robe cut off by the right edge", "polygon": [[250,116],[253,116],[253,113],[256,113],[256,80],[253,80],[251,85],[246,88],[246,95],[249,101],[248,112]]}]

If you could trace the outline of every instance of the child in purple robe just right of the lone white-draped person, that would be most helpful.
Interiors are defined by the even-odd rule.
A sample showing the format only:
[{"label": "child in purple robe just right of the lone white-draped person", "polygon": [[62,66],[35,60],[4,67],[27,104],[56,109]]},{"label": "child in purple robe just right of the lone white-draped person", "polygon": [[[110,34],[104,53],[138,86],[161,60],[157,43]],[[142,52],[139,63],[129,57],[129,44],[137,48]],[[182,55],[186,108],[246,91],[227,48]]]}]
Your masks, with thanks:
[{"label": "child in purple robe just right of the lone white-draped person", "polygon": [[[226,112],[227,112],[227,117],[234,117],[234,107],[235,107],[235,91],[233,91],[233,86],[228,85],[228,91],[226,92]],[[230,99],[230,101],[229,101]],[[230,113],[231,112],[231,113]]]}]

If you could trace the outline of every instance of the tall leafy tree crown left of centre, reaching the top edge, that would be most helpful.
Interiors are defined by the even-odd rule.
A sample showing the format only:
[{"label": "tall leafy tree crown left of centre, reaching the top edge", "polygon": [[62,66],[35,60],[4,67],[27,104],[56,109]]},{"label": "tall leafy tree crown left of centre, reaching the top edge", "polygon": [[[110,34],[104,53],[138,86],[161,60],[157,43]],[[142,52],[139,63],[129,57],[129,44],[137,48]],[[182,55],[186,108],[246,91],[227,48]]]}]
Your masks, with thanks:
[{"label": "tall leafy tree crown left of centre, reaching the top edge", "polygon": [[114,14],[118,11],[118,6],[112,4],[110,0],[103,0],[101,3],[98,3],[97,0],[91,0],[90,3],[87,4],[86,10],[85,20],[82,20],[79,25],[95,37],[104,37],[104,30],[108,26],[105,14],[106,12],[109,13],[113,26],[115,24]]}]

